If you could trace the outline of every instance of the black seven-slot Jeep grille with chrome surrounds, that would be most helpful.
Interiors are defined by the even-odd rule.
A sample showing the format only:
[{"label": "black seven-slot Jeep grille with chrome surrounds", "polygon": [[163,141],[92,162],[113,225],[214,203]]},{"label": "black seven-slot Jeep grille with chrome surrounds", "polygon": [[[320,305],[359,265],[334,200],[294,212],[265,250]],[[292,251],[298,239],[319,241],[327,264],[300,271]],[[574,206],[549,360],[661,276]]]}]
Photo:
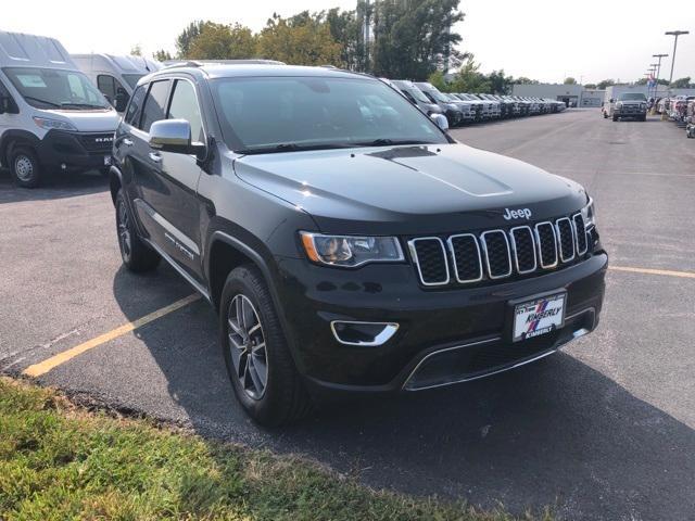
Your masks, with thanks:
[{"label": "black seven-slot Jeep grille with chrome surrounds", "polygon": [[421,237],[408,241],[408,246],[424,285],[446,285],[452,277],[463,284],[525,276],[569,264],[585,255],[595,242],[590,232],[582,214],[574,214],[508,231],[460,233],[445,240]]}]

